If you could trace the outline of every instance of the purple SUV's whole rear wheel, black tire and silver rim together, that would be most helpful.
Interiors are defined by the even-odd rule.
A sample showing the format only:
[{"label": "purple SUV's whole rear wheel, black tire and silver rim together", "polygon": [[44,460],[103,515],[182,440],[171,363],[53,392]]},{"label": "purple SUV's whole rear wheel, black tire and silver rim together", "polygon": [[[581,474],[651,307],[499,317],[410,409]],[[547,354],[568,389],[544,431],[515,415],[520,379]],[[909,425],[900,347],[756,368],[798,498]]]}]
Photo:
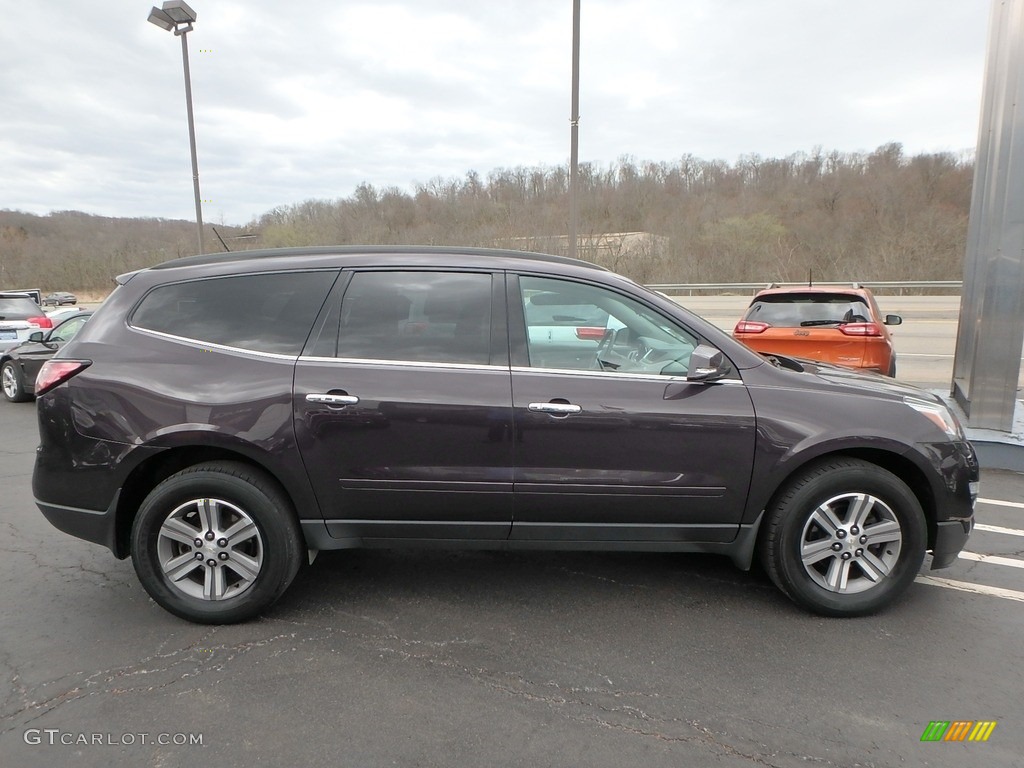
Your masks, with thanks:
[{"label": "purple SUV's whole rear wheel, black tire and silver rim together", "polygon": [[131,531],[132,562],[145,591],[171,613],[200,624],[233,624],[266,610],[295,579],[303,551],[284,492],[238,462],[171,475],[142,502]]}]

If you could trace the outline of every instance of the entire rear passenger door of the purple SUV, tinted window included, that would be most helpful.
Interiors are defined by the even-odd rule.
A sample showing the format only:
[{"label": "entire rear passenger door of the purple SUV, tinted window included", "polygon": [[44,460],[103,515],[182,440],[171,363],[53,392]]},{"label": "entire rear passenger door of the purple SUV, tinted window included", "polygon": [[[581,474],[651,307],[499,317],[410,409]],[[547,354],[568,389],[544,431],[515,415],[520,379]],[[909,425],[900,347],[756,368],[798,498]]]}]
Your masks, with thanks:
[{"label": "entire rear passenger door of the purple SUV, tinted window included", "polygon": [[[324,324],[340,328],[337,349],[347,356],[300,357],[295,375],[296,436],[332,536],[508,537],[504,313],[501,275],[352,278],[333,313],[338,325]],[[493,336],[496,323],[502,333]],[[309,347],[335,348],[322,339]]]}]

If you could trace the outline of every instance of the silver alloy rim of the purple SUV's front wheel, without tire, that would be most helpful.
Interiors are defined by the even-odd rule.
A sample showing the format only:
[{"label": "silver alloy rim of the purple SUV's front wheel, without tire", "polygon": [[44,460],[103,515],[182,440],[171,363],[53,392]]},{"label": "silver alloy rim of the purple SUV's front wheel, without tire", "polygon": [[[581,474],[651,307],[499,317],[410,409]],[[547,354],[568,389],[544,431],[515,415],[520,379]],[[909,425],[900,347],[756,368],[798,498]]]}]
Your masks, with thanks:
[{"label": "silver alloy rim of the purple SUV's front wheel, without tire", "polygon": [[843,494],[818,506],[800,538],[807,574],[840,594],[884,582],[899,561],[903,531],[896,514],[868,494]]}]

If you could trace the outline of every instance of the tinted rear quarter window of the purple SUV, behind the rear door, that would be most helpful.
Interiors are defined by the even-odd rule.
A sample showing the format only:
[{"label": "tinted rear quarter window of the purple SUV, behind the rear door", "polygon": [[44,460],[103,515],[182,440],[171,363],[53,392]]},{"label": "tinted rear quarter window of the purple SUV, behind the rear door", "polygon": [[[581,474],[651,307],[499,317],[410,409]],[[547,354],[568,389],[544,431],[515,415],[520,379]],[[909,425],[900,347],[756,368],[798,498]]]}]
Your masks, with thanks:
[{"label": "tinted rear quarter window of the purple SUV, behind the rear door", "polygon": [[298,355],[337,271],[275,272],[155,288],[130,325],[257,352]]}]

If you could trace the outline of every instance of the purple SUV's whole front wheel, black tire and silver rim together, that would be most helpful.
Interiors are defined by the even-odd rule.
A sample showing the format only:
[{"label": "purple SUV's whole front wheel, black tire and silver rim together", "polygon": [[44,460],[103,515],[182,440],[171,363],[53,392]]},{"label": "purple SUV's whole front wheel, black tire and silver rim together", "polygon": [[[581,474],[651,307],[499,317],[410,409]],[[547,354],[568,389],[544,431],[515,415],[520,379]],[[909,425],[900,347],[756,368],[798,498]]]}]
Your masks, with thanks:
[{"label": "purple SUV's whole front wheel, black tire and silver rim together", "polygon": [[761,561],[799,605],[858,616],[910,586],[927,543],[925,513],[906,483],[869,462],[836,458],[808,468],[776,498]]}]

